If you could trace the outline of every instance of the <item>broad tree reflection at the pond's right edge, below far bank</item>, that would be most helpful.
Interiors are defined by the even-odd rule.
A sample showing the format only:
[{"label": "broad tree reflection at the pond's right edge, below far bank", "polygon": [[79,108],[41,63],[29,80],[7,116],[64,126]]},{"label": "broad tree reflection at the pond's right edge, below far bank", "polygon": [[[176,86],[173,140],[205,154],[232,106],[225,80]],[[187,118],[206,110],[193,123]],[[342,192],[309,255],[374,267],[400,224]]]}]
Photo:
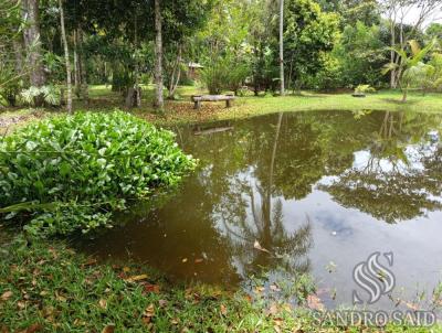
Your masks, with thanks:
[{"label": "broad tree reflection at the pond's right edge, below far bank", "polygon": [[[329,192],[345,207],[356,207],[387,223],[411,219],[441,210],[442,182],[439,136],[429,133],[428,117],[407,121],[403,112],[385,112],[366,153],[332,184]],[[359,158],[359,159],[358,159]]]}]

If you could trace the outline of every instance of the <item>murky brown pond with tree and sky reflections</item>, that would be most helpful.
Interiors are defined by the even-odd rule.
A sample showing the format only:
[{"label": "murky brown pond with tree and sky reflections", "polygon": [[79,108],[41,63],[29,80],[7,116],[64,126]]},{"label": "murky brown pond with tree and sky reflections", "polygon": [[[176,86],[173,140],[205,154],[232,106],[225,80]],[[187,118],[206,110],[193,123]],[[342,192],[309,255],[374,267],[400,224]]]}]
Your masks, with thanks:
[{"label": "murky brown pond with tree and sky reflections", "polygon": [[354,290],[367,300],[354,269],[379,251],[394,302],[431,294],[442,272],[441,120],[311,111],[176,128],[198,171],[82,247],[223,286],[308,273],[328,307],[351,304]]}]

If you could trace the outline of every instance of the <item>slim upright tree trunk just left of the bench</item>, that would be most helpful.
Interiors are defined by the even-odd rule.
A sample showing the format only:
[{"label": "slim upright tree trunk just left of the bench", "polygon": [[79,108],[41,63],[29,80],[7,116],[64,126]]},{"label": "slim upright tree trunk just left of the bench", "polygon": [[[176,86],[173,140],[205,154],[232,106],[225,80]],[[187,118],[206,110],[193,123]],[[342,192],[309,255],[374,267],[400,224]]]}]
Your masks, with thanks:
[{"label": "slim upright tree trunk just left of the bench", "polygon": [[162,97],[162,32],[160,0],[155,0],[155,103],[154,106],[162,109],[165,106]]}]

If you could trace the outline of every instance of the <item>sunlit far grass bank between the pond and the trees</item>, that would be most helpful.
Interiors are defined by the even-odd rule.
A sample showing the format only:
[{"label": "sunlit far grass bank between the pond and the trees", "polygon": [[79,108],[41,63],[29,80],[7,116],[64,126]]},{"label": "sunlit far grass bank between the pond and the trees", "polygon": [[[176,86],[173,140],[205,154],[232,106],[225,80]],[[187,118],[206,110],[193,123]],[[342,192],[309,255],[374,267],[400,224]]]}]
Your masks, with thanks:
[{"label": "sunlit far grass bank between the pond and the trees", "polygon": [[[442,94],[427,94],[419,92],[409,94],[407,103],[401,103],[402,94],[399,90],[381,90],[367,95],[366,98],[355,98],[350,93],[345,94],[318,94],[303,92],[301,95],[287,95],[283,97],[248,96],[239,97],[234,106],[225,109],[224,103],[203,103],[202,108],[193,110],[190,96],[206,94],[203,89],[183,86],[178,89],[179,100],[167,100],[165,111],[159,114],[151,107],[154,98],[152,86],[145,86],[143,90],[143,107],[133,109],[131,112],[157,125],[196,123],[213,120],[241,119],[274,112],[302,111],[302,110],[386,110],[407,112],[442,112]],[[75,110],[109,111],[123,108],[120,94],[112,92],[110,87],[91,86],[90,101],[87,105],[81,100],[74,100]],[[15,123],[39,119],[62,112],[57,109],[39,110],[9,110],[0,112],[0,135],[6,129],[13,129]]]}]

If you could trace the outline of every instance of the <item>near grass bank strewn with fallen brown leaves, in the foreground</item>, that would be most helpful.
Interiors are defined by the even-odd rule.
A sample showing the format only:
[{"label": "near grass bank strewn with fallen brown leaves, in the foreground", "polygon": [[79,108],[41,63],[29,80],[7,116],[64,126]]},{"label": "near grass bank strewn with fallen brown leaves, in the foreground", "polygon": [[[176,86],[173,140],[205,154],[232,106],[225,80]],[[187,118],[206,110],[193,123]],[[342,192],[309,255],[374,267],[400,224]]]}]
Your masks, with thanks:
[{"label": "near grass bank strewn with fallen brown leaves, in the foreground", "polygon": [[[290,304],[204,284],[171,284],[144,266],[97,264],[64,241],[0,236],[0,332],[379,332],[319,326]],[[433,327],[433,331],[439,331]],[[382,332],[428,332],[407,325]]]}]

